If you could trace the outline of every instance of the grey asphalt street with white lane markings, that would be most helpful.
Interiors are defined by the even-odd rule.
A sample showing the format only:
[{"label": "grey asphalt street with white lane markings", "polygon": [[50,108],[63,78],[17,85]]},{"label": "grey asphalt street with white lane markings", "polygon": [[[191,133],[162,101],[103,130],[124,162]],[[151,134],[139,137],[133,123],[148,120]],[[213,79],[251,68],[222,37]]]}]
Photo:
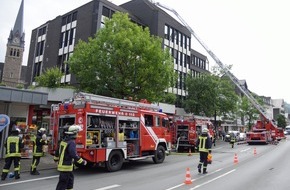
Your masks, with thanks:
[{"label": "grey asphalt street with white lane markings", "polygon": [[[255,151],[256,154],[255,154]],[[235,145],[218,141],[213,147],[213,163],[208,174],[198,174],[199,155],[172,154],[163,164],[151,159],[124,164],[122,170],[109,173],[103,168],[78,169],[75,190],[283,190],[290,189],[290,142],[278,145]],[[236,155],[236,160],[235,160]],[[234,163],[236,162],[236,163]],[[190,170],[192,184],[184,184],[186,169]],[[58,182],[55,169],[43,170],[40,176],[21,174],[20,180],[1,181],[1,190],[53,190]]]}]

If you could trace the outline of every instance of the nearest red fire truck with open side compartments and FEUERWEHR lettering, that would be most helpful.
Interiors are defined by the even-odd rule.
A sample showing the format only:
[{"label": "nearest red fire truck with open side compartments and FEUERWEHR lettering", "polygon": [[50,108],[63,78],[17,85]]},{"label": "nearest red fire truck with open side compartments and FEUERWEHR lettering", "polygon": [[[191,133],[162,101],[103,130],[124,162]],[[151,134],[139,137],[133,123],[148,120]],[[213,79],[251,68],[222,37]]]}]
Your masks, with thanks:
[{"label": "nearest red fire truck with open side compartments and FEUERWEHR lettering", "polygon": [[51,108],[51,154],[68,125],[80,125],[78,154],[108,171],[120,170],[124,161],[152,158],[162,163],[170,151],[169,119],[159,107],[88,93]]}]

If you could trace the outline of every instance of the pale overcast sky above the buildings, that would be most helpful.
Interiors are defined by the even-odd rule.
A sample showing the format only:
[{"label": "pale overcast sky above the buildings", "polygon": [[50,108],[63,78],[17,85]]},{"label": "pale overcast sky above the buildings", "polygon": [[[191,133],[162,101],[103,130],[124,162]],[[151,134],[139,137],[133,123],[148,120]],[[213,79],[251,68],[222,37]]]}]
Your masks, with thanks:
[{"label": "pale overcast sky above the buildings", "polygon": [[[27,65],[31,31],[58,15],[90,0],[24,0]],[[120,5],[128,0],[110,0]],[[155,0],[173,8],[232,73],[246,80],[248,89],[260,96],[290,103],[290,3],[288,0]],[[21,0],[0,1],[0,62]],[[215,61],[192,36],[192,49]],[[288,79],[287,79],[288,78]]]}]

